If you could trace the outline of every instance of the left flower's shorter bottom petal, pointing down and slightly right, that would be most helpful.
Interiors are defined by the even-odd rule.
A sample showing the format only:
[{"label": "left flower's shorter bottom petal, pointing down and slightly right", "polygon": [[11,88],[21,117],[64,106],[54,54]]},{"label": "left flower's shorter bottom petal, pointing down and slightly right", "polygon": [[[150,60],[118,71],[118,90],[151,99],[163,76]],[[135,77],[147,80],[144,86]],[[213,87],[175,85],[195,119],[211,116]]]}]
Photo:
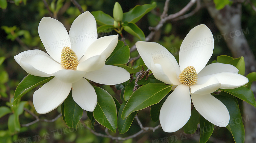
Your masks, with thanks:
[{"label": "left flower's shorter bottom petal, pointing down and slightly right", "polygon": [[97,95],[90,83],[84,78],[72,83],[72,97],[82,109],[92,112],[97,104]]}]

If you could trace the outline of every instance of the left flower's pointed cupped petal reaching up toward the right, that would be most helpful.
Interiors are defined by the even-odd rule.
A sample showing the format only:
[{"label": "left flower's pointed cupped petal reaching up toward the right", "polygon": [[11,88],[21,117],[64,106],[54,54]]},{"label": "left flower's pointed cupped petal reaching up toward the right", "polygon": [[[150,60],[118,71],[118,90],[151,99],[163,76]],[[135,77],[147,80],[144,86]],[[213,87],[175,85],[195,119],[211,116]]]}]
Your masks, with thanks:
[{"label": "left flower's pointed cupped petal reaching up toward the right", "polygon": [[117,42],[118,35],[100,37],[87,48],[80,62],[98,55],[104,55],[107,59],[117,46]]}]

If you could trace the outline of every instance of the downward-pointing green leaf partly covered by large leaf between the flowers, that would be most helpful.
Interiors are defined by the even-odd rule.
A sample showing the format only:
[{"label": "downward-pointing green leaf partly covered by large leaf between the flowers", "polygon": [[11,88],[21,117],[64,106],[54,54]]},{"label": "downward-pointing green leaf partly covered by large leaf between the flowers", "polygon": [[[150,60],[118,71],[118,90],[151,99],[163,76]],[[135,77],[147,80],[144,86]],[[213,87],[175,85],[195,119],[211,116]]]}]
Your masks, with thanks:
[{"label": "downward-pointing green leaf partly covered by large leaf between the flowers", "polygon": [[125,106],[126,102],[123,102],[120,106],[119,112],[118,112],[118,116],[117,116],[117,128],[119,131],[119,134],[124,134],[125,132],[127,132],[129,130],[129,128],[132,125],[133,119],[134,117],[137,115],[137,112],[133,112],[132,114],[130,114],[127,118],[125,118],[124,120],[121,118],[121,114],[123,111],[123,108]]}]

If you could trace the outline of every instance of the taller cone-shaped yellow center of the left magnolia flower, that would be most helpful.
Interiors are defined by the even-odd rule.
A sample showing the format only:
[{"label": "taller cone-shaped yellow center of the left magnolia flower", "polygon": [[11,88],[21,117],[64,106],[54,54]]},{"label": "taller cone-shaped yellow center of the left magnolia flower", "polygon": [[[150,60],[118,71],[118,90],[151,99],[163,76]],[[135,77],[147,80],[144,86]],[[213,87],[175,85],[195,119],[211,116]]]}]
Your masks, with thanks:
[{"label": "taller cone-shaped yellow center of the left magnolia flower", "polygon": [[66,69],[75,69],[78,65],[78,60],[75,52],[68,46],[65,46],[61,51],[60,64]]}]

